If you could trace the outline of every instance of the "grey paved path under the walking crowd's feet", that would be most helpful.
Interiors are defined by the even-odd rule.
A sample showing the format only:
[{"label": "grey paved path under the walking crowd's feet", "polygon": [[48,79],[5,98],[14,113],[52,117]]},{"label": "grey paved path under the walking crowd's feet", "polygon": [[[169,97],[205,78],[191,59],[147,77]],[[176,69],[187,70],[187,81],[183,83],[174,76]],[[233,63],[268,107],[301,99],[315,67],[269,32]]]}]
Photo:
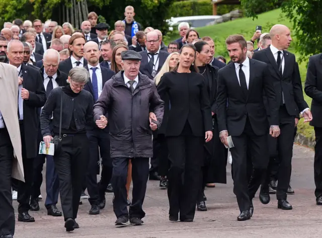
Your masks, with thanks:
[{"label": "grey paved path under the walking crowd's feet", "polygon": [[[167,191],[160,190],[158,182],[149,181],[144,201],[146,217],[143,226],[115,227],[112,195],[107,194],[107,206],[97,216],[88,214],[90,205],[83,200],[84,205],[80,206],[77,218],[81,228],[70,233],[63,228],[63,218],[47,216],[44,202],[40,202],[40,211],[30,212],[36,222],[17,222],[15,238],[320,237],[322,207],[315,205],[313,155],[311,149],[294,147],[292,187],[295,195],[288,198],[293,205],[293,210],[290,211],[277,209],[274,195],[268,205],[261,204],[257,196],[254,199],[255,211],[252,219],[236,221],[239,211],[232,193],[231,176],[227,172],[227,185],[218,184],[216,188],[206,190],[208,211],[196,211],[194,222],[169,222]],[[227,171],[230,171],[229,165]],[[44,186],[42,193],[45,195]],[[17,211],[16,201],[14,205]],[[60,204],[58,208],[61,209]]]}]

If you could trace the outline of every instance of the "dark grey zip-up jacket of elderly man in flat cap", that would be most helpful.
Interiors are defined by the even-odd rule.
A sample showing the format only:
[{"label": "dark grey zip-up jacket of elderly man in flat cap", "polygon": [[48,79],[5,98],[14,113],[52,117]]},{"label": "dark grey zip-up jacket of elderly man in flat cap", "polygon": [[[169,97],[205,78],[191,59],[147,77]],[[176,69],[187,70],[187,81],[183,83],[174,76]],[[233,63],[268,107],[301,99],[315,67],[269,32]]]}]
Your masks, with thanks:
[{"label": "dark grey zip-up jacket of elderly man in flat cap", "polygon": [[164,102],[147,76],[139,73],[138,85],[132,94],[124,83],[123,74],[124,71],[120,71],[105,83],[94,105],[94,120],[108,112],[112,158],[149,158],[153,156],[149,108],[155,113],[159,127]]}]

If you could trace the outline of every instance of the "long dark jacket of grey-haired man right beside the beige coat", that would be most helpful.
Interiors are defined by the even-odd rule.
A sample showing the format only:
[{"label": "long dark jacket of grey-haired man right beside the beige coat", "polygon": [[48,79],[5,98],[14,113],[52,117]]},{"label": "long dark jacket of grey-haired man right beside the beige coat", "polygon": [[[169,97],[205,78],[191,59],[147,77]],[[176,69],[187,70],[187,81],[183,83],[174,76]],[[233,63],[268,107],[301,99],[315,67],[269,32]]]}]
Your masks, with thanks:
[{"label": "long dark jacket of grey-haired man right beside the beige coat", "polygon": [[46,91],[39,70],[22,64],[23,87],[29,91],[29,99],[24,100],[24,125],[27,158],[35,158],[38,152],[37,136],[39,128],[38,108],[46,102]]}]

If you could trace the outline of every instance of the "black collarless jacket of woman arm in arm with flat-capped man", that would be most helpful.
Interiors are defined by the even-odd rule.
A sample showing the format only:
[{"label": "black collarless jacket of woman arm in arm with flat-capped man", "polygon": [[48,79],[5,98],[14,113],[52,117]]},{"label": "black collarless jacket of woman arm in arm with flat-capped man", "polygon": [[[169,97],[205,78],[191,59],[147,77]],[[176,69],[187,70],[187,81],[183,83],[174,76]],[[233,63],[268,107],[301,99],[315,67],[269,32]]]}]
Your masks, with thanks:
[{"label": "black collarless jacket of woman arm in arm with flat-capped man", "polygon": [[187,121],[194,136],[212,131],[209,94],[204,77],[196,72],[165,73],[157,86],[160,98],[169,96],[171,108],[166,136],[180,136]]}]

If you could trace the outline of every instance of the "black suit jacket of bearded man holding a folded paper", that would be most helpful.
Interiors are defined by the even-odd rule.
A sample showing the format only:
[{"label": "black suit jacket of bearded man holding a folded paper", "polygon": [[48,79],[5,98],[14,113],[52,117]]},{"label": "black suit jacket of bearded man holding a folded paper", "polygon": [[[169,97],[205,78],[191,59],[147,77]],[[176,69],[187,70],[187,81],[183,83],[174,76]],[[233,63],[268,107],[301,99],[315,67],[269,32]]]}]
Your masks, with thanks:
[{"label": "black suit jacket of bearded man holding a folded paper", "polygon": [[[240,136],[244,132],[247,116],[254,133],[262,136],[268,133],[269,123],[264,105],[263,92],[269,102],[270,124],[279,125],[279,106],[269,72],[269,66],[250,59],[250,81],[248,97],[240,87],[231,63],[218,72],[217,119],[219,132],[228,131],[230,136]],[[228,106],[227,106],[228,100]]]}]

